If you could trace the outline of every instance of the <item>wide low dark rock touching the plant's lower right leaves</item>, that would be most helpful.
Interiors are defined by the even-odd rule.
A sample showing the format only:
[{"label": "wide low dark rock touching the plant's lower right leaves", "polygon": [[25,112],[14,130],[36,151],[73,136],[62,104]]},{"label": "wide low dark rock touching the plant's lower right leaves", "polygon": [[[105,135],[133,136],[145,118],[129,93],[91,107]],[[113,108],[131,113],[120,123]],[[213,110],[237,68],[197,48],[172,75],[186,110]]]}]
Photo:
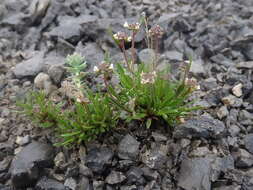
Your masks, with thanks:
[{"label": "wide low dark rock touching the plant's lower right leaves", "polygon": [[174,138],[214,138],[219,139],[226,135],[224,124],[216,119],[200,117],[199,119],[190,119],[176,127]]}]

